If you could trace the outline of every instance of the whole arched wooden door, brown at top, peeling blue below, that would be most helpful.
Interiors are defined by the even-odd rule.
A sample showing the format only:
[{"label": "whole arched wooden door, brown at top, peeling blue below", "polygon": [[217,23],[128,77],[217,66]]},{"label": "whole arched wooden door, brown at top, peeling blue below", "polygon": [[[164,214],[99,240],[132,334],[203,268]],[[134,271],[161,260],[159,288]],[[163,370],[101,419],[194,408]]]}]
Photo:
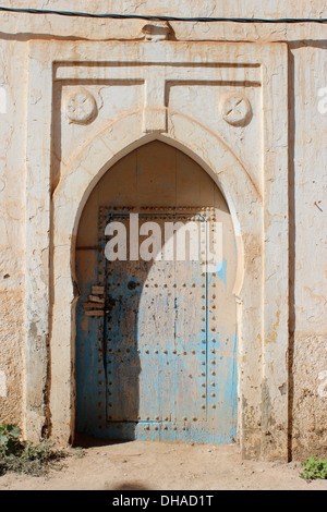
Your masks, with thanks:
[{"label": "whole arched wooden door, brown at top, peeling blue below", "polygon": [[[105,257],[105,228],[222,224],[222,264]],[[210,224],[213,225],[213,224]],[[140,243],[144,239],[140,237]],[[162,245],[165,245],[162,240]],[[76,241],[76,431],[109,439],[229,442],[237,435],[237,252],[211,178],[155,141],[95,186]]]}]

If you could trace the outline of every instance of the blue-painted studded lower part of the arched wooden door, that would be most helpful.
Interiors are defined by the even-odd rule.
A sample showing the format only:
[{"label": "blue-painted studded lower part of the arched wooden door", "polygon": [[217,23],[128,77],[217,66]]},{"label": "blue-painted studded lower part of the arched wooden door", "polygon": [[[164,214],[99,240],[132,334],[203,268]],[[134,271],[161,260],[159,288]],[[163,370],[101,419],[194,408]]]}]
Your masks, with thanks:
[{"label": "blue-painted studded lower part of the arched wooden door", "polygon": [[[165,222],[185,220],[182,210],[143,214],[140,225],[155,221],[164,233]],[[101,233],[109,220],[129,231],[129,212],[101,208]],[[223,268],[208,273],[198,260],[108,261],[106,241],[95,277],[100,302],[78,356],[80,431],[229,442],[237,430],[237,337],[225,333],[216,309]]]}]

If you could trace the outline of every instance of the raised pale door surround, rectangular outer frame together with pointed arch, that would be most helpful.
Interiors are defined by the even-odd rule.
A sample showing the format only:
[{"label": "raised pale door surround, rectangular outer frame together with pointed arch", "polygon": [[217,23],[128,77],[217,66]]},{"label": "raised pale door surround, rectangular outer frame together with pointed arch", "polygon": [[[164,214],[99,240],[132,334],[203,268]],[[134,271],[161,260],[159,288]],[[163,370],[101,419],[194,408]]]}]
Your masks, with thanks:
[{"label": "raised pale door surround, rectangular outer frame together with pointed arch", "polygon": [[[238,245],[239,439],[244,456],[288,453],[288,97],[283,44],[178,41],[28,44],[26,175],[26,358],[24,434],[45,429],[55,440],[74,435],[75,236],[80,216],[99,179],[124,155],[153,139],[198,162],[218,184],[232,215]],[[263,193],[204,122],[171,111],[165,84],[145,63],[217,73],[254,73],[262,86]],[[145,70],[144,108],[96,133],[51,175],[52,87],[60,62],[137,63]],[[56,65],[55,65],[56,64]],[[85,66],[87,70],[87,66]],[[243,71],[242,71],[243,70]],[[63,68],[64,73],[64,68]],[[180,71],[177,71],[177,74]],[[245,73],[245,74],[244,74]],[[231,75],[229,75],[231,76]],[[162,76],[161,76],[162,77]],[[178,75],[179,77],[179,75]],[[155,78],[155,80],[154,80]],[[165,78],[165,77],[164,77]],[[222,80],[222,78],[221,78]],[[232,80],[232,78],[230,78]],[[165,80],[164,80],[165,82]]]}]

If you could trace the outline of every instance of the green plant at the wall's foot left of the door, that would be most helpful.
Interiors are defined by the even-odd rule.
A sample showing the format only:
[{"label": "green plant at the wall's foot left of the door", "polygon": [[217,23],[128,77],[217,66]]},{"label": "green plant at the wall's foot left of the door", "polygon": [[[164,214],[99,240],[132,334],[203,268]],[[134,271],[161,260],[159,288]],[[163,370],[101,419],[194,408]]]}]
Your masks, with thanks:
[{"label": "green plant at the wall's foot left of the door", "polygon": [[60,461],[66,455],[48,440],[38,444],[24,441],[16,425],[0,425],[0,475],[12,471],[41,476],[49,470],[61,468]]}]

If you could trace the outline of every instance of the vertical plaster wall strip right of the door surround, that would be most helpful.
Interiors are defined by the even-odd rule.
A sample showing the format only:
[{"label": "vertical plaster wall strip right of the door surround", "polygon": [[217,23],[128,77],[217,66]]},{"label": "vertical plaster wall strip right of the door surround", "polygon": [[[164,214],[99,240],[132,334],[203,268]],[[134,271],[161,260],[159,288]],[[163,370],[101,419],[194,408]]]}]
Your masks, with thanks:
[{"label": "vertical plaster wall strip right of the door surround", "polygon": [[[326,45],[294,58],[294,368],[293,451],[327,452]],[[324,386],[325,383],[325,386]]]}]

